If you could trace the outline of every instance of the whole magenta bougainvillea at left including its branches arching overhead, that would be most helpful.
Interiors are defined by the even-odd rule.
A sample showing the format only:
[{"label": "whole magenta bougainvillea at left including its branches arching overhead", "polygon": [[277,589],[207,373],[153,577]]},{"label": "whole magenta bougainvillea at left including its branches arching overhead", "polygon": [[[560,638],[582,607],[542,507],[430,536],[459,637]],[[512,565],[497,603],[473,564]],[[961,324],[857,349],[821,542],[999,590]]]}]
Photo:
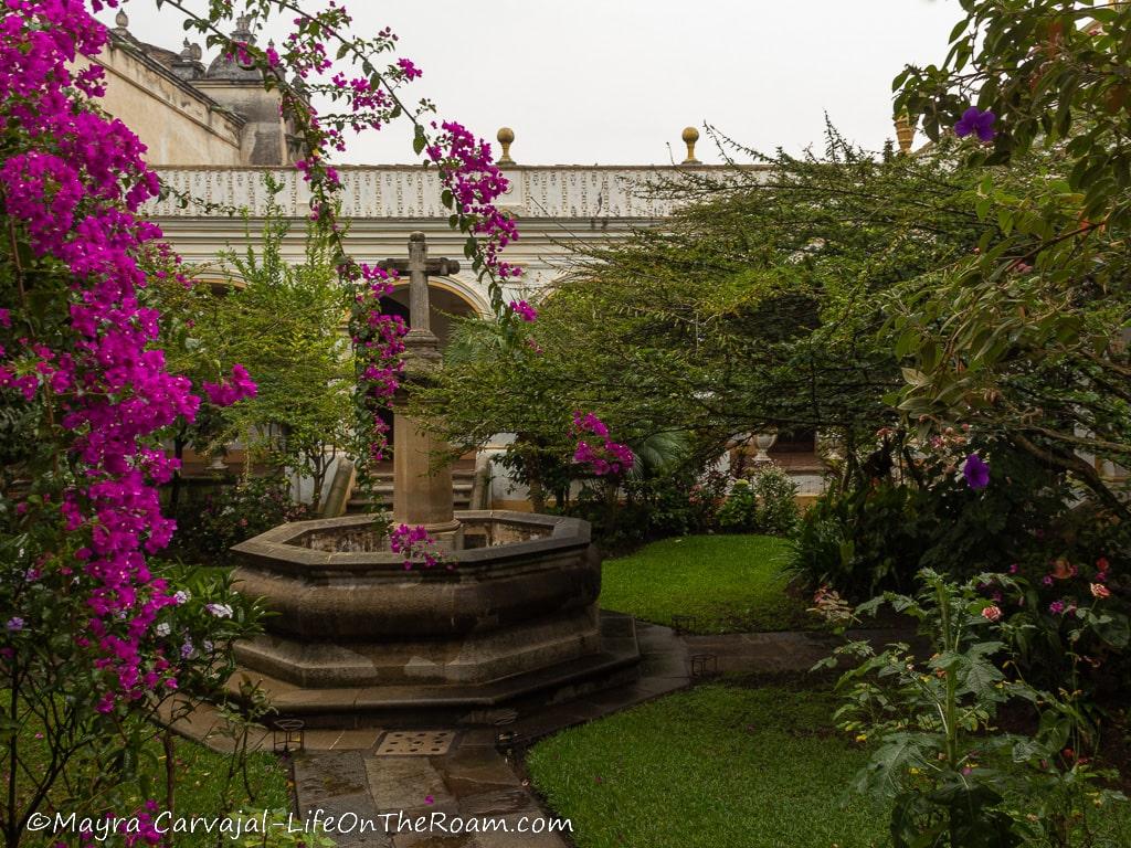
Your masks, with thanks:
[{"label": "whole magenta bougainvillea at left including its branches arching overhead", "polygon": [[[115,787],[145,777],[139,728],[173,694],[215,695],[232,669],[232,641],[258,618],[225,581],[190,591],[153,559],[175,530],[158,501],[176,468],[162,438],[254,397],[257,386],[240,363],[195,374],[193,384],[157,345],[161,291],[192,282],[158,227],[138,217],[161,190],[144,146],[97,105],[102,71],[86,59],[106,45],[93,12],[107,5],[116,6],[11,0],[0,10],[0,831],[10,846],[59,793],[96,814],[128,813]],[[262,0],[243,10],[252,29],[273,9],[286,9],[293,29],[279,50],[261,49],[222,34],[235,15],[227,0],[200,12],[164,6],[279,92],[305,150],[297,166],[311,187],[310,217],[342,279],[363,288],[374,275],[342,249],[329,152],[343,149],[349,129],[405,118],[417,153],[428,148],[440,171],[473,268],[490,280],[503,322],[512,318],[500,280],[513,269],[500,251],[517,233],[492,205],[506,182],[490,149],[458,123],[428,121],[426,102],[406,106],[403,88],[418,69],[407,59],[378,62],[395,35],[352,37],[349,15],[335,3],[312,11]],[[288,81],[295,73],[302,85]],[[342,109],[320,115],[311,94]],[[388,344],[392,351],[395,339]],[[25,738],[29,726],[41,738]],[[93,778],[83,770],[95,765]],[[141,813],[152,820],[172,797],[170,789]],[[127,837],[138,840],[157,834]]]}]

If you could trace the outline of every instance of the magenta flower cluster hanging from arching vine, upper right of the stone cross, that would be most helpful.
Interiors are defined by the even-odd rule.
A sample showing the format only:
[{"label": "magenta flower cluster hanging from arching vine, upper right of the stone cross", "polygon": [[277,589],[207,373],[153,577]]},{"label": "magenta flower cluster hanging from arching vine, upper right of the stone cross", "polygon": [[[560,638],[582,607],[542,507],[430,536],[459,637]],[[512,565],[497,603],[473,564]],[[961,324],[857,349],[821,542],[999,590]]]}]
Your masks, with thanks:
[{"label": "magenta flower cluster hanging from arching vine, upper right of the stone cross", "polygon": [[494,205],[510,183],[494,164],[491,145],[456,121],[444,121],[439,129],[441,135],[428,146],[428,155],[440,166],[440,181],[456,207],[475,217],[472,232],[480,237],[485,269],[500,280],[517,277],[519,269],[500,256],[518,239],[518,227]]}]

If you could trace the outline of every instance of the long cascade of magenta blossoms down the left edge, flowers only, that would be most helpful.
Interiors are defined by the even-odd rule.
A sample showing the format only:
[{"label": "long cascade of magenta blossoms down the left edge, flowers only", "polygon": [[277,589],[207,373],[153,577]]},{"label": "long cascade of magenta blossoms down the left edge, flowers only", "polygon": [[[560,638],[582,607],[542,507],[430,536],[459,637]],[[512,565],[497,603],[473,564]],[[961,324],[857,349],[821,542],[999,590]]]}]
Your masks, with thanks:
[{"label": "long cascade of magenta blossoms down the left edge, flowers only", "polygon": [[[61,337],[37,340],[29,330],[14,349],[0,348],[0,386],[59,414],[76,474],[58,510],[61,530],[80,543],[74,568],[51,562],[85,598],[89,638],[77,641],[94,649],[95,667],[107,675],[98,709],[109,712],[119,696],[175,686],[147,640],[158,612],[176,602],[146,562],[174,529],[156,484],[170,479],[175,460],[147,441],[180,417],[191,421],[200,400],[149,348],[158,314],[141,304],[139,257],[167,249],[135,213],[157,193],[157,178],[137,137],[86,99],[101,96],[101,69],[72,70],[77,55],[102,51],[105,27],[76,0],[7,0],[2,14],[0,120],[9,149],[18,150],[0,162],[2,211],[37,270],[66,268],[69,288],[59,289],[55,309],[69,322]],[[25,269],[15,272],[21,278]],[[5,312],[5,329],[12,311],[19,326],[36,326],[21,298]],[[247,372],[235,390],[253,390]]]}]

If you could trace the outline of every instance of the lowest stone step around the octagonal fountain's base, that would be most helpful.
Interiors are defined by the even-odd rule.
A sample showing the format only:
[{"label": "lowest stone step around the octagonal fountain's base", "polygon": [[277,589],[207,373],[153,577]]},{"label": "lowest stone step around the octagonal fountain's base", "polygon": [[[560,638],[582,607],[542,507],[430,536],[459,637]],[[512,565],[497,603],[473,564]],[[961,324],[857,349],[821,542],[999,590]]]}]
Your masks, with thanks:
[{"label": "lowest stone step around the octagonal fountain's base", "polygon": [[598,652],[484,684],[304,689],[240,668],[230,689],[244,676],[257,681],[277,718],[300,718],[307,727],[491,725],[501,708],[526,712],[634,681],[640,648],[632,617],[603,612],[601,624]]}]

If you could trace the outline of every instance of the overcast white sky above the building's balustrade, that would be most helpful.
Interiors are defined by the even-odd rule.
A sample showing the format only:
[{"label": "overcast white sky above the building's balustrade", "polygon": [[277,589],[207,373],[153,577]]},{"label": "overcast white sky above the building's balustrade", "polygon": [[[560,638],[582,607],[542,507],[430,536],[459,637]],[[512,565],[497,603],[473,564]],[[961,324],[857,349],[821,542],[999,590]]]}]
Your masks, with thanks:
[{"label": "overcast white sky above the building's balustrade", "polygon": [[[388,25],[432,98],[494,140],[513,128],[524,164],[632,165],[683,158],[680,132],[707,121],[758,149],[820,142],[824,113],[880,149],[891,78],[940,62],[957,0],[346,0],[359,34]],[[180,47],[175,10],[126,6],[130,29]],[[107,23],[113,12],[104,14]],[[206,60],[209,57],[206,57]],[[400,126],[343,158],[412,162]],[[717,162],[706,139],[698,156]]]}]

